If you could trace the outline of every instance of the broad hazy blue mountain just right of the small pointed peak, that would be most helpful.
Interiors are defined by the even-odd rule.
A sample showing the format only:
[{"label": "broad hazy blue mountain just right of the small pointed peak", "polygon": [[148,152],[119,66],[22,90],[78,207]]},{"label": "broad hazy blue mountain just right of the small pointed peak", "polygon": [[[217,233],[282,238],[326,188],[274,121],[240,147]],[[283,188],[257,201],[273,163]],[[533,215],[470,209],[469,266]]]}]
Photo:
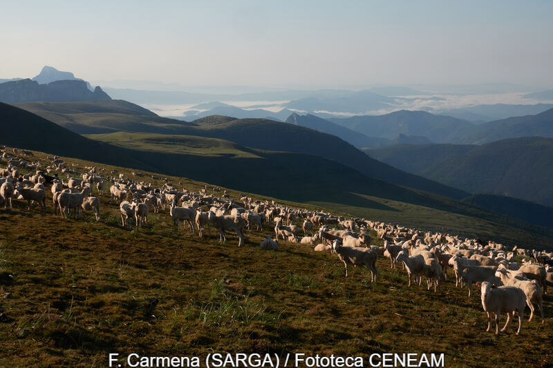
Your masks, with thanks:
[{"label": "broad hazy blue mountain just right of the small pointed peak", "polygon": [[456,142],[459,135],[465,135],[475,127],[470,122],[454,117],[409,110],[378,116],[354,116],[329,120],[371,137],[395,139],[400,134],[418,135],[439,143]]}]

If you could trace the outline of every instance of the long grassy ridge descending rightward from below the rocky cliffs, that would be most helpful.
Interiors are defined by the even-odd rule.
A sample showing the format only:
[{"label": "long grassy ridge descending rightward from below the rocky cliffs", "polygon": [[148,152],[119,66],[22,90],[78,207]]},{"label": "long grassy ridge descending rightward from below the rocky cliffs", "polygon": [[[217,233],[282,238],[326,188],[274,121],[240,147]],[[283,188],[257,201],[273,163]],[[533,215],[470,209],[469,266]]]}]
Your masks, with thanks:
[{"label": "long grassy ridge descending rightward from below the rocky cliffs", "polygon": [[[171,135],[195,135],[225,139],[241,146],[268,151],[287,151],[306,155],[315,155],[337,161],[356,171],[384,180],[393,184],[410,186],[431,193],[460,199],[467,193],[432,182],[423,177],[410,175],[382,162],[371,159],[357,148],[343,140],[326,133],[317,132],[302,126],[274,122],[268,119],[198,119],[194,122],[182,122],[175,119],[129,113],[120,111],[119,104],[129,104],[125,101],[114,101],[109,106],[111,112],[106,112],[106,106],[100,105],[101,112],[95,110],[94,102],[87,104],[40,104],[20,105],[33,113],[51,119],[79,134],[114,133],[158,133]],[[67,112],[68,108],[73,108]],[[75,112],[77,111],[77,112]],[[213,124],[213,122],[218,124]]]}]

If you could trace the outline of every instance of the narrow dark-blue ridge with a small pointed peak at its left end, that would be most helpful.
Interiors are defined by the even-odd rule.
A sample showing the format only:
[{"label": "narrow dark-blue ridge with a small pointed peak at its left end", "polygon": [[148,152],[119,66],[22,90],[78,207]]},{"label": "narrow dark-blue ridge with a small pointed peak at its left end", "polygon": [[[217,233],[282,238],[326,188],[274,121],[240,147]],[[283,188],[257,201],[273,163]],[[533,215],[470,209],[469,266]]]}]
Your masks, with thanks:
[{"label": "narrow dark-blue ridge with a small pointed peak at its left end", "polygon": [[356,146],[358,148],[364,147],[382,147],[390,144],[390,141],[385,138],[367,137],[366,135],[355,132],[344,126],[329,122],[328,120],[321,119],[315,115],[298,115],[293,113],[286,119],[287,123],[303,126],[319,132],[335,135],[344,141]]}]

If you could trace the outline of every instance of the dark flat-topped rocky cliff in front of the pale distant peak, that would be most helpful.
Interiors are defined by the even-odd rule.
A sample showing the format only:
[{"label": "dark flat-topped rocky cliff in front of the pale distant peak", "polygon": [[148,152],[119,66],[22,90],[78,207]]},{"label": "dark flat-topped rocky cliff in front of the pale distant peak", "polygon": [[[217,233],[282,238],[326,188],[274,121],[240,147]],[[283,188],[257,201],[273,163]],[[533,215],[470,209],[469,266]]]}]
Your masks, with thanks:
[{"label": "dark flat-topped rocky cliff in front of the pale distant peak", "polygon": [[0,84],[0,101],[16,104],[28,101],[90,101],[111,99],[100,87],[94,91],[86,87],[85,81],[67,80],[38,84],[37,81],[21,79]]}]

